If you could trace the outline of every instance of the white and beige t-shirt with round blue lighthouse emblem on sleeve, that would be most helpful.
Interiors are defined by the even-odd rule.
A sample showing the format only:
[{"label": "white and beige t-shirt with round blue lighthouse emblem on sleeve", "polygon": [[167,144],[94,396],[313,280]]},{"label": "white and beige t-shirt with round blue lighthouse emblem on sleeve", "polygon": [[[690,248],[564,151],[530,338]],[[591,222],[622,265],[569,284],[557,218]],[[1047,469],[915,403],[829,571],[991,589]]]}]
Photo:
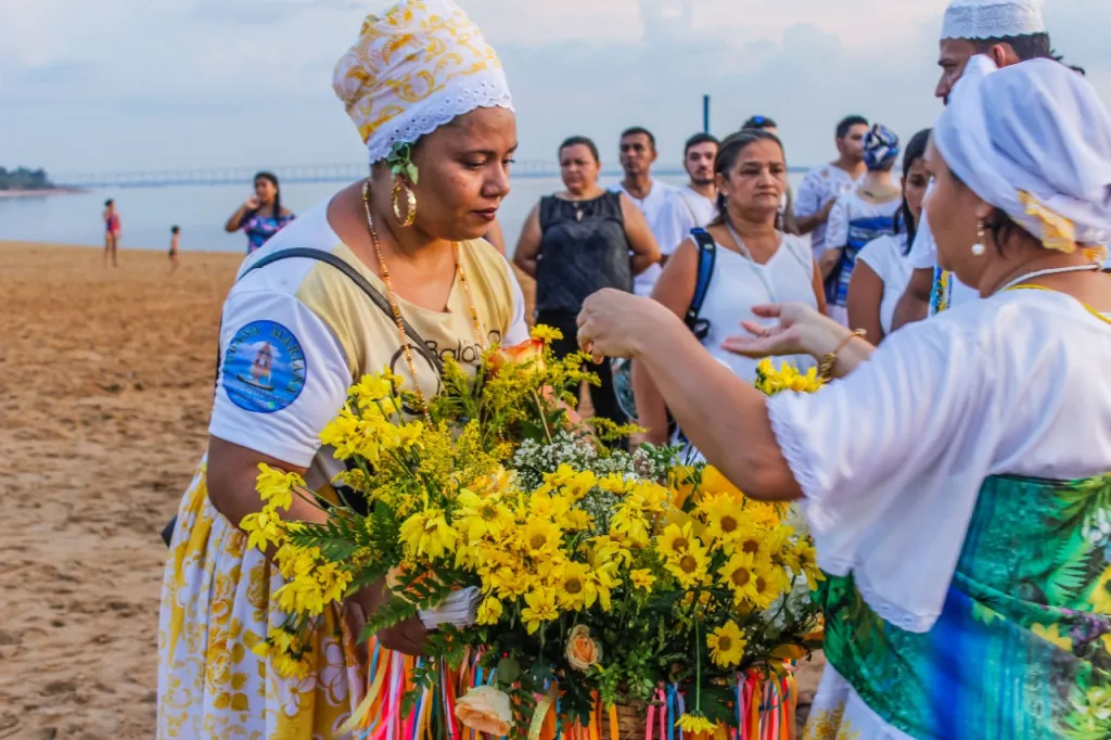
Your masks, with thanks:
[{"label": "white and beige t-shirt with round blue lighthouse emblem on sleeve", "polygon": [[[282,229],[247,259],[240,274],[274,251],[309,247],[346,260],[384,294],[378,276],[332,231],[327,211],[327,203],[318,206]],[[461,242],[460,259],[488,333],[486,344],[527,340],[524,299],[506,259],[482,240]],[[398,303],[431,351],[478,364],[481,347],[458,280],[448,311],[401,298]],[[433,394],[440,382],[436,370],[416,349],[412,356],[420,388]],[[393,319],[337,268],[309,258],[268,264],[232,287],[223,307],[220,357],[209,432],[294,466],[312,463],[313,488],[339,472],[331,454],[321,452],[320,431],[343,407],[354,379],[389,367],[413,388]]]}]

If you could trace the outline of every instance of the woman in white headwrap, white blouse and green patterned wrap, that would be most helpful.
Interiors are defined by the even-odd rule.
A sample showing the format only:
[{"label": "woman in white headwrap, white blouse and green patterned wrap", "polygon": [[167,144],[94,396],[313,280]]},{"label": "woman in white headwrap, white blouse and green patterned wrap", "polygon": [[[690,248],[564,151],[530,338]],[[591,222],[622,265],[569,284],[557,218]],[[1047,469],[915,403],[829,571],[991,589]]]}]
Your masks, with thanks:
[{"label": "woman in white headwrap, white blouse and green patterned wrap", "polygon": [[[802,499],[828,580],[810,738],[1111,737],[1111,116],[1052,61],[974,59],[934,129],[941,263],[984,300],[874,349],[798,306],[727,346],[839,378],[765,399],[670,313],[587,300],[749,496]],[[698,383],[690,383],[698,378]]]}]

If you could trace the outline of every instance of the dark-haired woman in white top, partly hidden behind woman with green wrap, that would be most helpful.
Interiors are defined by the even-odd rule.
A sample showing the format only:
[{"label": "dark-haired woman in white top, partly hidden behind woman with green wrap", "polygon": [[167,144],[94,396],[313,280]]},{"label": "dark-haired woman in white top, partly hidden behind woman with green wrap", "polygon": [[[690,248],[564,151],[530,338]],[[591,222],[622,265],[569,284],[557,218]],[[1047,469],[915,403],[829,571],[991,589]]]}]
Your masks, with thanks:
[{"label": "dark-haired woman in white top, partly hidden behind woman with green wrap", "polygon": [[895,303],[910,280],[908,257],[922,222],[922,199],[930,183],[925,148],[930,129],[919,131],[903,153],[902,206],[895,214],[898,232],[870,241],[857,254],[857,268],[849,283],[849,328],[863,329],[879,344],[891,333]]}]

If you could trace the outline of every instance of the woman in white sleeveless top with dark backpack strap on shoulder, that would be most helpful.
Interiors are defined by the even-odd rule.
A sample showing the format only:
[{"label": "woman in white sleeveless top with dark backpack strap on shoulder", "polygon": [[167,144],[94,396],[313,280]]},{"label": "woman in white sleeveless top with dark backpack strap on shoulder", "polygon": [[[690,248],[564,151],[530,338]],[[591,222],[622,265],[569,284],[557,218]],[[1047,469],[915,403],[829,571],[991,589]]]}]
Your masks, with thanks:
[{"label": "woman in white sleeveless top with dark backpack strap on shoulder", "polygon": [[[721,142],[713,169],[718,216],[707,236],[692,236],[668,260],[652,298],[678,317],[688,313],[698,287],[700,259],[708,259],[698,240],[705,240],[714,261],[698,317],[709,323],[702,346],[738,378],[752,381],[757,362],[721,348],[742,321],[758,320],[752,307],[798,301],[824,311],[825,298],[810,246],[777,228],[787,187],[787,160],[779,138],[761,130],[734,133]],[[793,359],[802,370],[813,367],[809,357]],[[633,394],[638,422],[648,430],[647,441],[665,443],[667,407],[638,363],[633,364]]]}]

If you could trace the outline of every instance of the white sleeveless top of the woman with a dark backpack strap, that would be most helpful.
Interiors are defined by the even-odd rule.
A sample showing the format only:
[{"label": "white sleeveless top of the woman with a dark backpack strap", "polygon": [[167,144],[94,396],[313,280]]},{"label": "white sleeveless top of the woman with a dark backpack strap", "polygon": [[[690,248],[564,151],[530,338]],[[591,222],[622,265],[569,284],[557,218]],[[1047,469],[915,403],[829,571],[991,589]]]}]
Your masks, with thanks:
[{"label": "white sleeveless top of the woman with a dark backpack strap", "polygon": [[[755,380],[758,360],[751,360],[721,349],[729,337],[741,333],[742,321],[772,326],[775,321],[759,319],[753,306],[762,303],[799,302],[817,309],[814,296],[814,261],[807,242],[792,234],[783,234],[775,253],[764,264],[757,264],[747,257],[718,244],[713,276],[707,289],[705,301],[699,318],[710,322],[710,331],[702,346],[718,361],[728,366],[741,380]],[[805,371],[814,366],[810,356],[782,358]]]}]

